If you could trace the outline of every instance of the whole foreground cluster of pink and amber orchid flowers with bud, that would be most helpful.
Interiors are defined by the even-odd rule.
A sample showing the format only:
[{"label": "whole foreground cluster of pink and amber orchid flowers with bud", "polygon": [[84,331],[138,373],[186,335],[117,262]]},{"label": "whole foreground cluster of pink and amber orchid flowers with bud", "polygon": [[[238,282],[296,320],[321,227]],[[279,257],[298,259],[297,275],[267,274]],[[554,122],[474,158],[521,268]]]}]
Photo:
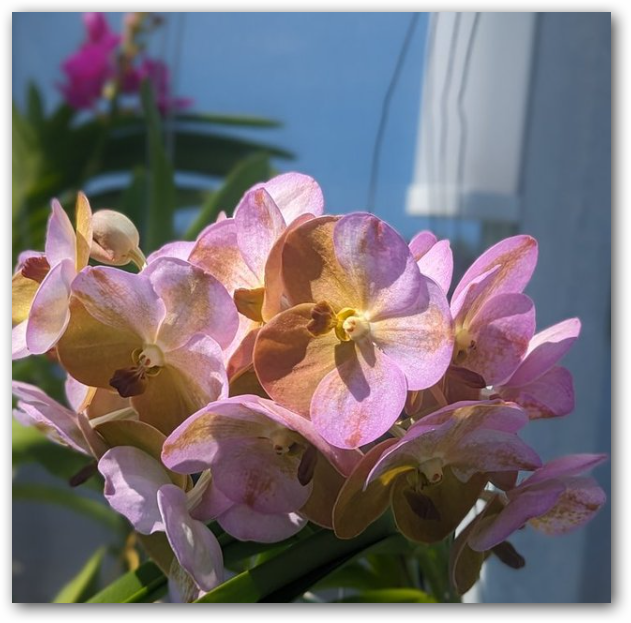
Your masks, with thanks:
[{"label": "whole foreground cluster of pink and amber orchid flowers with bud", "polygon": [[574,405],[558,363],[580,322],[536,333],[536,261],[532,237],[505,239],[449,300],[447,240],[324,215],[299,173],[146,259],[124,215],[79,194],[73,226],[53,201],[45,251],[13,276],[13,357],[58,361],[68,406],[14,382],[14,415],[98,460],[112,508],[166,535],[183,600],[223,581],[212,521],[274,543],[307,522],[353,538],[386,512],[418,543],[460,527],[464,592],[491,553],[520,566],[515,530],[569,532],[605,502],[584,473],[606,456],[543,465],[519,437]]}]

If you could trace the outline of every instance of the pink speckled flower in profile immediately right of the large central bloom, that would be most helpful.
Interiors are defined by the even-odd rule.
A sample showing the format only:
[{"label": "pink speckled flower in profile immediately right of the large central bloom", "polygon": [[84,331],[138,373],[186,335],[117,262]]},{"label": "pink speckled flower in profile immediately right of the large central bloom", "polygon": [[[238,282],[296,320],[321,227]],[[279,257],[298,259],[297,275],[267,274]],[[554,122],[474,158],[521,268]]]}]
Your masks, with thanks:
[{"label": "pink speckled flower in profile immediately right of the large central bloom", "polygon": [[536,263],[534,238],[507,238],[485,251],[454,290],[453,364],[477,373],[487,385],[510,377],[534,334],[535,307],[521,292]]}]

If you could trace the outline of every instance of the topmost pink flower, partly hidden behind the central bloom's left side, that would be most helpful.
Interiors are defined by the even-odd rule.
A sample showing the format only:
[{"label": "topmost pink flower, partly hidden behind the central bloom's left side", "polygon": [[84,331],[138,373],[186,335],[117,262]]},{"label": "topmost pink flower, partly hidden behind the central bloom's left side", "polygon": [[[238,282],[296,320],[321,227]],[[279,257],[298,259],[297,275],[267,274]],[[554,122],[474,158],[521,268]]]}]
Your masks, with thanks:
[{"label": "topmost pink flower, partly hidden behind the central bloom's left side", "polygon": [[[198,237],[187,259],[219,279],[240,312],[228,356],[242,352],[229,365],[230,377],[251,365],[257,330],[280,310],[280,251],[288,228],[321,215],[323,209],[322,191],[313,178],[285,173],[253,186],[234,218],[218,220]],[[170,250],[184,251],[181,245]]]}]

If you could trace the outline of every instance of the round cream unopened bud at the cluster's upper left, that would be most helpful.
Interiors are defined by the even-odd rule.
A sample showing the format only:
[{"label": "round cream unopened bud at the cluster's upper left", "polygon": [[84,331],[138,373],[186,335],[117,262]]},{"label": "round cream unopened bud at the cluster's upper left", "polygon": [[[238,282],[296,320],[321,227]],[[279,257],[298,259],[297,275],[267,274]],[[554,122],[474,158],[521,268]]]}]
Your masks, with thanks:
[{"label": "round cream unopened bud at the cluster's upper left", "polygon": [[90,256],[111,266],[133,262],[142,269],[145,256],[139,247],[140,235],[136,226],[120,212],[99,210],[92,215],[92,247]]}]

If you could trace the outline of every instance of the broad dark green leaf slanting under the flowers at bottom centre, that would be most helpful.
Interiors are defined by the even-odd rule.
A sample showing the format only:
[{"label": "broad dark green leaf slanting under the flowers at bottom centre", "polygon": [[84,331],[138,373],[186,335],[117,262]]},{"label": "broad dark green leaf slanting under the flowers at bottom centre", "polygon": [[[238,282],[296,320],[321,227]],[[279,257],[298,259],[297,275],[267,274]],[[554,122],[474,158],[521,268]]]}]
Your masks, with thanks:
[{"label": "broad dark green leaf slanting under the flowers at bottom centre", "polygon": [[[322,530],[299,541],[263,564],[244,571],[210,591],[200,603],[254,603],[282,593],[284,600],[297,597],[353,556],[394,533],[388,516],[372,524],[354,539],[341,540]],[[288,587],[294,590],[287,590]]]}]

